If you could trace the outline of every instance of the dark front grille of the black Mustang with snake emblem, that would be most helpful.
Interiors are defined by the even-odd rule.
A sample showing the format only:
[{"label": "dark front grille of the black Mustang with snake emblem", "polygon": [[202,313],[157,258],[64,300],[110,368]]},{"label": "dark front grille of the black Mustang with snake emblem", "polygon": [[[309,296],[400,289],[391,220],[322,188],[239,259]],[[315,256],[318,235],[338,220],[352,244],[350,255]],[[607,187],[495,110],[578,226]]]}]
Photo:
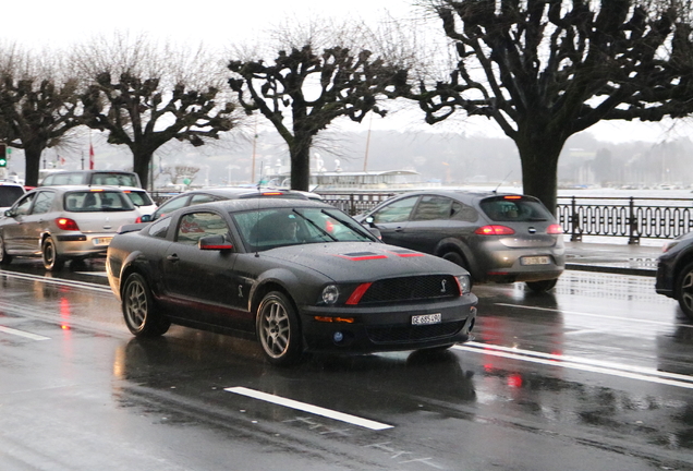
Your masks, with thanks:
[{"label": "dark front grille of the black Mustang with snake emblem", "polygon": [[452,275],[388,278],[375,281],[358,304],[415,301],[460,295]]}]

